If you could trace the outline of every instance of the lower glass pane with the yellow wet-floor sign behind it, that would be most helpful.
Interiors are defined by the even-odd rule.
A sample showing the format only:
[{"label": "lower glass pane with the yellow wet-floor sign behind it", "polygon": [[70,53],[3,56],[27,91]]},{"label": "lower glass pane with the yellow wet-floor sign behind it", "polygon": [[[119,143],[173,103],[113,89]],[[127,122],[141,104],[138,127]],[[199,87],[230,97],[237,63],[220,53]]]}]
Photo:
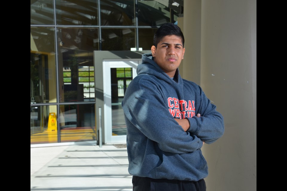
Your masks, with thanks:
[{"label": "lower glass pane with the yellow wet-floor sign behind it", "polygon": [[57,143],[57,106],[30,107],[30,144]]}]

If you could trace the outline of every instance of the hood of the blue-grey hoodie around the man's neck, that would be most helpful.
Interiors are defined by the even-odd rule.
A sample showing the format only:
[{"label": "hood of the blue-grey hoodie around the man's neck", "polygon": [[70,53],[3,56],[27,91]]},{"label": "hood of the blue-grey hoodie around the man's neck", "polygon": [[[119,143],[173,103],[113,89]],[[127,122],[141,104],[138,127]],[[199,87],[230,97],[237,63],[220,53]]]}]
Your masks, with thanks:
[{"label": "hood of the blue-grey hoodie around the man's neck", "polygon": [[169,84],[181,81],[178,69],[176,69],[174,79],[171,79],[170,76],[161,70],[158,64],[153,61],[152,53],[146,53],[142,55],[142,63],[137,67],[137,74],[149,74],[162,79]]}]

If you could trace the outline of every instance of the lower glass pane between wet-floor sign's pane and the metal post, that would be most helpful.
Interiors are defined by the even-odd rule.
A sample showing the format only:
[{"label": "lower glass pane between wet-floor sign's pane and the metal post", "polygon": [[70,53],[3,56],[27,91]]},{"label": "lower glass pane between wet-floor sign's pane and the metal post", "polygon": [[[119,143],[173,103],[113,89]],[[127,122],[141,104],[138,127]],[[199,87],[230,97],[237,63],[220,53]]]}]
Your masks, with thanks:
[{"label": "lower glass pane between wet-floor sign's pane and the metal post", "polygon": [[95,141],[94,104],[60,105],[61,142]]}]

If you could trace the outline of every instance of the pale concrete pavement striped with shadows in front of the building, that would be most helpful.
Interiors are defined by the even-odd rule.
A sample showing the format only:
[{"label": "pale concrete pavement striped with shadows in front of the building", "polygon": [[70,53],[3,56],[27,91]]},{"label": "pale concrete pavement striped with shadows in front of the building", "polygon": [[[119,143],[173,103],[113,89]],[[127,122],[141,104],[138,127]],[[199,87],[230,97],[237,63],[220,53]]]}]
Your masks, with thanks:
[{"label": "pale concrete pavement striped with shadows in front of the building", "polygon": [[125,144],[31,147],[30,190],[132,191]]}]

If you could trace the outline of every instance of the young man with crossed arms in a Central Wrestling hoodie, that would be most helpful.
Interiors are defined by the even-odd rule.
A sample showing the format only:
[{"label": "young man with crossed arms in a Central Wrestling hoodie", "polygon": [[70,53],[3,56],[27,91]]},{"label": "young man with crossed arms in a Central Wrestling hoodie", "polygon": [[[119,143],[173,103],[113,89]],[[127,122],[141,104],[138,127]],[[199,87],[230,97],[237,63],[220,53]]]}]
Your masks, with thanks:
[{"label": "young man with crossed arms in a Central Wrestling hoodie", "polygon": [[163,24],[126,90],[122,107],[134,191],[206,190],[201,147],[223,135],[224,123],[201,87],[180,77],[184,50],[180,28]]}]

